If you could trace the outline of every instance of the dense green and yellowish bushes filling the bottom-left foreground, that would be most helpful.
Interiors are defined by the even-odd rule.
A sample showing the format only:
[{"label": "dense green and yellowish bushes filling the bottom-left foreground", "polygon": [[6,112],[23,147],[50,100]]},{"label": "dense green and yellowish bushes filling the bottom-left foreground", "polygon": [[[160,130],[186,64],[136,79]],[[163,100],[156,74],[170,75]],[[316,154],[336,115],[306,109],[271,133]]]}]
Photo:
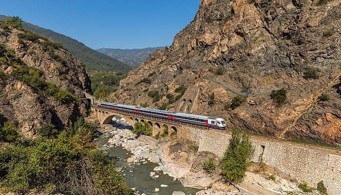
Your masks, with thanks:
[{"label": "dense green and yellowish bushes filling the bottom-left foreground", "polygon": [[[21,140],[0,151],[1,187],[15,193],[132,195],[114,161],[96,150],[92,130]],[[97,193],[96,193],[97,192]]]}]

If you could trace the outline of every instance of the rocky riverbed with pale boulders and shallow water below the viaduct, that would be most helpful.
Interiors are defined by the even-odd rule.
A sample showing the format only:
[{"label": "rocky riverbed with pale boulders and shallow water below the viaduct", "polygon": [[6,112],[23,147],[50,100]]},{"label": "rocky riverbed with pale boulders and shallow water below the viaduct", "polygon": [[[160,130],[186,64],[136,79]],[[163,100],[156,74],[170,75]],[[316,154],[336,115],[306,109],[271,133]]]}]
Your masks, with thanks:
[{"label": "rocky riverbed with pale boulders and shallow water below the viaduct", "polygon": [[212,154],[192,151],[192,143],[175,137],[161,140],[137,137],[130,128],[120,120],[114,127],[102,126],[104,134],[99,145],[113,157],[119,157],[119,171],[127,176],[128,183],[137,194],[244,195],[247,193],[243,189],[245,187],[265,189],[278,195],[300,192],[297,184],[288,179],[275,176],[275,180],[271,180],[264,174],[252,172],[246,173],[240,185],[243,187],[228,186],[220,181],[218,170],[211,174],[203,171],[202,161],[215,157]]}]

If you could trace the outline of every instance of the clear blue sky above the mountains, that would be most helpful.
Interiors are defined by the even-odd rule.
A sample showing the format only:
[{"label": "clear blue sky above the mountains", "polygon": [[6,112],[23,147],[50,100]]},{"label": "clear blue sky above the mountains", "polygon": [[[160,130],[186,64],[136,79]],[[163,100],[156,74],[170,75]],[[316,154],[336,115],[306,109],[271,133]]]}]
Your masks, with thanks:
[{"label": "clear blue sky above the mountains", "polygon": [[1,0],[0,14],[97,49],[170,45],[193,20],[200,0]]}]

